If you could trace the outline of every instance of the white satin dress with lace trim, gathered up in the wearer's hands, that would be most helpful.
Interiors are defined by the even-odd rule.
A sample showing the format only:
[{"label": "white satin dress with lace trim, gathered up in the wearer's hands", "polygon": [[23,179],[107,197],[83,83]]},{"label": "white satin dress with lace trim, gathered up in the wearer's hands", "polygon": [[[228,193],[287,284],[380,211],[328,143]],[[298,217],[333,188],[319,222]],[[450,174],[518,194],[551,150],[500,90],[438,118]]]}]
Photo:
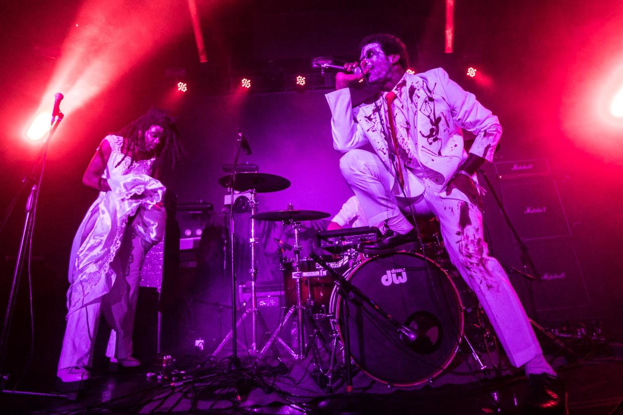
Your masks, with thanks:
[{"label": "white satin dress with lace trim, gathered up in the wearer's hands", "polygon": [[70,287],[67,315],[110,292],[120,274],[113,259],[123,241],[128,220],[146,242],[158,243],[164,235],[165,188],[152,174],[155,158],[123,158],[123,138],[107,136],[111,154],[102,175],[111,190],[100,192],[88,209],[74,238],[69,263]]}]

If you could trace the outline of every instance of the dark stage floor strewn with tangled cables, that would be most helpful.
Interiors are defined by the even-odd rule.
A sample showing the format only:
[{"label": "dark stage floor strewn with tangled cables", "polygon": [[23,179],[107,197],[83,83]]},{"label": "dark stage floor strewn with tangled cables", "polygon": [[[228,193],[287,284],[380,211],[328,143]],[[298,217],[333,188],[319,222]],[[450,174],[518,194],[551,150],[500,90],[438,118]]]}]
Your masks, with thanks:
[{"label": "dark stage floor strewn with tangled cables", "polygon": [[[569,395],[571,414],[623,413],[623,358],[587,354],[572,365],[559,366]],[[178,368],[194,371],[191,378],[149,378],[155,366],[117,373],[101,370],[80,390],[75,400],[51,396],[4,394],[2,413],[256,413],[256,414],[483,414],[520,413],[526,380],[508,370],[502,376],[473,374],[469,358],[451,366],[426,385],[389,387],[357,370],[354,392],[345,392],[338,374],[334,393],[326,393],[314,375],[314,361],[285,358],[283,365],[263,366],[234,376],[227,359],[215,364],[202,357],[177,361]],[[244,357],[243,367],[248,366]],[[554,360],[560,363],[559,358]],[[274,361],[273,363],[278,363]],[[485,364],[487,362],[485,361]],[[19,390],[55,392],[53,374],[27,378]],[[74,397],[71,396],[70,397]],[[617,409],[616,409],[617,408]],[[615,411],[616,410],[616,411]],[[613,412],[614,411],[614,412]],[[617,412],[619,411],[619,412]]]}]

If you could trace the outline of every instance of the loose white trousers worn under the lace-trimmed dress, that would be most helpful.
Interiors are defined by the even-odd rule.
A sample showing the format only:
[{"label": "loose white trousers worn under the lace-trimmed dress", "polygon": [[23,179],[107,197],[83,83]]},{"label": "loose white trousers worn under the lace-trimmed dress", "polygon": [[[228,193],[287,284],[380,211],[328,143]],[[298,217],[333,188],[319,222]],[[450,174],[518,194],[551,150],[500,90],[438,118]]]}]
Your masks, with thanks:
[{"label": "loose white trousers worn under the lace-trimmed dress", "polygon": [[112,289],[67,317],[67,328],[60,352],[59,370],[72,366],[90,367],[97,337],[100,313],[112,328],[106,355],[124,359],[132,354],[132,333],[141,268],[151,244],[126,226],[123,242],[111,266],[117,271]]}]

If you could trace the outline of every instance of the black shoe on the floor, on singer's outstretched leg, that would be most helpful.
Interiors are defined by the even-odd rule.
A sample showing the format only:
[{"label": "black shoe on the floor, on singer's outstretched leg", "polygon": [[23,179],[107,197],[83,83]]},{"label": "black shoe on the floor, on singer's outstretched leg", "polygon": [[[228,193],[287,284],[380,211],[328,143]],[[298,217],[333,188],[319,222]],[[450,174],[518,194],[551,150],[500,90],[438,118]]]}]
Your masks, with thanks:
[{"label": "black shoe on the floor, on singer's outstretched leg", "polygon": [[529,375],[528,396],[523,413],[567,415],[567,393],[563,381],[547,373]]}]

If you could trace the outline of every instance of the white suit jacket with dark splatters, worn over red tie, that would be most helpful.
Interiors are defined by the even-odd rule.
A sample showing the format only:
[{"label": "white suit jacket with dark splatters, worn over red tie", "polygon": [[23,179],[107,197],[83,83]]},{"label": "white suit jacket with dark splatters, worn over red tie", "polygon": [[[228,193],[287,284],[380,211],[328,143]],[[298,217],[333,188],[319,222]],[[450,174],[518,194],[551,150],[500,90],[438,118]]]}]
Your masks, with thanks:
[{"label": "white suit jacket with dark splatters, worn over red tie", "polygon": [[[392,91],[396,93],[393,104],[396,135],[407,149],[401,161],[416,171],[426,172],[430,185],[444,189],[467,158],[462,128],[476,135],[469,151],[492,161],[502,135],[497,116],[482,106],[472,93],[450,80],[442,68],[416,75],[405,73]],[[327,94],[326,100],[332,114],[333,147],[347,152],[369,142],[392,172],[386,121],[382,121],[382,118],[386,120],[387,113],[385,95],[379,96],[376,103],[353,108],[350,90],[343,88]],[[412,169],[406,170],[411,174]],[[407,180],[407,184],[411,183],[407,189],[410,197],[424,191],[424,187],[417,184],[421,180],[414,184],[411,179]]]}]

